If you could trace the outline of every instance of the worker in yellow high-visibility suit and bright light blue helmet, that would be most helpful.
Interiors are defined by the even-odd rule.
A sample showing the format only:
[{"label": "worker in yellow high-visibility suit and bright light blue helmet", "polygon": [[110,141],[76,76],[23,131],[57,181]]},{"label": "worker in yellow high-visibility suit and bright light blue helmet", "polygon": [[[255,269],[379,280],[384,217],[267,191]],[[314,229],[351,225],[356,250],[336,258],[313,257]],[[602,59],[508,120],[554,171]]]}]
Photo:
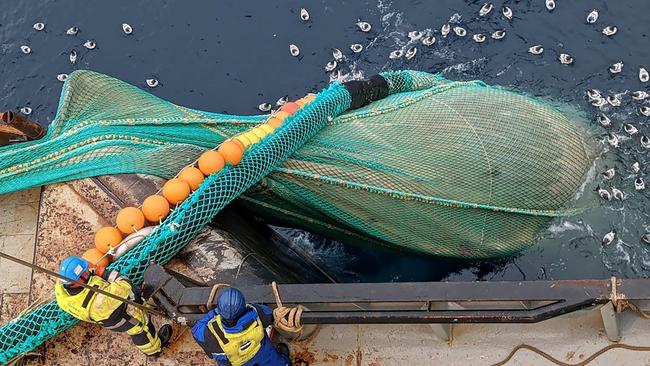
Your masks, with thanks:
[{"label": "worker in yellow high-visibility suit and bright light blue helmet", "polygon": [[61,262],[59,274],[69,280],[57,282],[57,304],[79,320],[99,324],[114,332],[126,332],[144,354],[158,355],[171,339],[171,325],[165,324],[156,332],[151,319],[142,309],[127,306],[123,301],[71,282],[83,282],[120,298],[144,304],[141,289],[133,287],[126,277],[120,276],[117,271],[106,271],[103,267],[89,267],[85,259],[78,257],[68,257]]}]

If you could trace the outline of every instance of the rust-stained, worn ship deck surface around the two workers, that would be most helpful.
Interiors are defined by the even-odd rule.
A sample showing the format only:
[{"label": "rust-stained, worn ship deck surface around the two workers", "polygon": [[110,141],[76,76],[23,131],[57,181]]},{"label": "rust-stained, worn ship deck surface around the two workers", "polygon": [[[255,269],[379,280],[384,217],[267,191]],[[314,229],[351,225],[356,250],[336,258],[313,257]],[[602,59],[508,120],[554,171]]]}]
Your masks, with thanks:
[{"label": "rust-stained, worn ship deck surface around the two workers", "polygon": [[[7,196],[0,202],[0,245],[3,251],[55,270],[59,261],[80,255],[93,242],[94,232],[111,223],[123,206],[137,204],[156,191],[160,181],[139,176],[101,177],[57,184]],[[221,258],[201,250],[199,241],[211,248],[229,240],[217,230],[203,235],[171,266],[191,277],[204,278],[205,268],[185,265],[189,253],[204,257],[215,267],[234,270],[243,253],[226,248]],[[215,244],[216,243],[216,244]],[[209,256],[210,255],[210,256]],[[226,258],[227,257],[227,258]],[[54,280],[40,273],[0,262],[0,322],[17,316],[29,304],[49,300]],[[650,345],[650,322],[626,314],[623,342]],[[160,324],[160,319],[157,320]],[[194,344],[187,328],[176,328],[172,346],[158,358],[147,358],[135,350],[129,338],[80,324],[64,332],[31,356],[26,365],[92,364],[213,365]],[[307,342],[292,345],[296,361],[311,365],[490,365],[505,357],[519,343],[538,346],[565,362],[579,362],[609,344],[598,311],[566,315],[533,325],[456,325],[452,339],[437,326],[343,325],[322,327]],[[300,363],[297,363],[300,364]],[[520,351],[509,365],[547,365],[540,356]],[[650,354],[610,351],[593,365],[650,365]]]}]

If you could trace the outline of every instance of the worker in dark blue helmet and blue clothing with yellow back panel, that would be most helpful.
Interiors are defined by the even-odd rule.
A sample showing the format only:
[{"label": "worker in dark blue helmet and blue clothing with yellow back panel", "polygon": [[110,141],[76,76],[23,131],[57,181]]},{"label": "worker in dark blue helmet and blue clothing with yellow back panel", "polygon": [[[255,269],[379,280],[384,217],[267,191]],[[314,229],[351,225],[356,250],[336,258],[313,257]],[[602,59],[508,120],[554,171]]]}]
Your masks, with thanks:
[{"label": "worker in dark blue helmet and blue clothing with yellow back panel", "polygon": [[288,366],[289,348],[271,344],[273,313],[261,304],[246,304],[244,294],[226,288],[217,307],[192,327],[194,339],[219,366]]}]

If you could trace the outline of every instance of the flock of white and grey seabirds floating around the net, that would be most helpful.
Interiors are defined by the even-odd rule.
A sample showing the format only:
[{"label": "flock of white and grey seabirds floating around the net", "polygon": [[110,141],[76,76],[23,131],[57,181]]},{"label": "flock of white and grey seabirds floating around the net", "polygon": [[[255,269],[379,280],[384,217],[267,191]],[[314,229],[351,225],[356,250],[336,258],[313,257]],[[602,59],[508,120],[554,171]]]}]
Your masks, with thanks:
[{"label": "flock of white and grey seabirds floating around the net", "polygon": [[[555,9],[555,0],[545,0],[545,6],[548,11],[553,11]],[[488,14],[492,13],[493,10],[494,10],[494,5],[491,2],[487,2],[483,4],[481,9],[479,10],[479,17],[485,17]],[[501,15],[507,21],[511,21],[513,18],[513,11],[510,7],[503,6],[501,8]],[[593,9],[587,14],[586,23],[595,24],[598,21],[598,18],[599,18],[598,9]],[[300,9],[300,19],[304,22],[308,22],[310,20],[310,15],[307,9],[305,8]],[[450,36],[452,34],[457,37],[467,36],[467,30],[462,26],[460,26],[459,24],[457,24],[458,20],[459,17],[458,18],[452,17],[449,20],[449,22],[443,24],[442,27],[440,28],[440,37],[446,38],[447,36]],[[46,26],[45,23],[38,22],[33,25],[33,28],[36,31],[43,31],[45,30],[45,26]],[[358,20],[356,26],[358,30],[363,33],[368,33],[372,29],[372,25],[369,22],[363,21],[361,19]],[[122,31],[126,35],[131,35],[133,34],[133,27],[131,27],[131,25],[127,23],[123,23]],[[602,34],[606,37],[613,37],[617,32],[618,32],[618,28],[615,25],[607,25],[602,29]],[[74,26],[70,27],[69,29],[66,30],[65,33],[66,35],[69,36],[76,36],[77,33],[79,33],[79,28]],[[489,35],[483,33],[476,33],[471,35],[471,38],[476,43],[483,43],[488,39],[488,37],[494,40],[501,40],[505,38],[505,36],[506,36],[505,30],[495,30]],[[388,54],[389,59],[395,60],[395,59],[404,58],[405,60],[410,60],[413,57],[415,57],[416,54],[418,53],[418,46],[414,44],[418,44],[418,45],[421,44],[421,47],[430,47],[436,43],[435,35],[427,34],[425,32],[417,31],[417,30],[408,32],[408,38],[410,40],[409,42],[410,46],[407,48],[400,48],[391,51]],[[93,50],[97,47],[97,44],[95,43],[94,40],[89,39],[86,40],[86,42],[84,42],[83,47],[85,47],[88,50]],[[360,53],[364,50],[364,46],[360,43],[351,44],[349,48],[350,51],[353,53]],[[26,55],[32,52],[31,48],[28,45],[20,46],[20,50],[22,51],[22,53]],[[528,48],[528,52],[533,55],[541,55],[544,52],[544,47],[541,44],[532,45]],[[293,57],[299,57],[300,48],[295,44],[290,44],[289,54]],[[340,80],[347,80],[347,78],[349,79],[363,78],[363,71],[361,70],[353,70],[353,72],[350,75],[348,74],[342,75],[340,68],[337,67],[340,65],[342,61],[345,60],[345,55],[343,51],[341,51],[338,48],[332,48],[332,56],[333,59],[329,61],[324,67],[325,71],[330,73],[330,83],[335,81],[340,81]],[[77,62],[77,57],[78,54],[76,50],[70,51],[69,60],[71,64],[74,65]],[[574,59],[568,53],[560,53],[558,55],[558,61],[564,65],[571,65],[573,64]],[[609,67],[609,72],[611,74],[618,74],[623,70],[623,67],[624,67],[623,61],[616,62]],[[648,81],[650,81],[650,74],[648,73],[648,70],[644,67],[639,68],[638,77],[642,83],[647,83]],[[68,74],[58,74],[56,78],[57,80],[64,82],[68,78]],[[145,81],[147,86],[149,86],[150,88],[155,88],[159,85],[157,79],[152,78],[152,79],[146,79]],[[589,101],[591,102],[591,104],[597,108],[603,108],[606,106],[619,107],[621,106],[622,103],[619,96],[604,95],[601,91],[596,89],[587,90],[586,95]],[[637,90],[631,92],[631,97],[635,101],[642,102],[643,100],[650,98],[650,93],[644,90]],[[289,100],[288,96],[283,96],[280,99],[278,99],[275,104],[276,106],[280,107],[288,100]],[[272,112],[274,110],[274,105],[265,102],[260,104],[258,106],[258,109],[262,112]],[[32,113],[31,108],[28,106],[21,107],[20,111],[25,115],[29,115]],[[641,105],[638,109],[638,113],[644,117],[650,117],[650,106]],[[600,113],[597,116],[597,121],[603,127],[610,127],[612,125],[612,120],[603,113]],[[631,138],[639,136],[638,138],[641,147],[645,151],[650,150],[650,138],[648,136],[640,134],[637,127],[635,127],[633,124],[631,123],[623,124],[623,130]],[[619,145],[621,144],[621,140],[622,140],[621,136],[617,135],[614,132],[609,132],[604,142],[616,148],[619,147]],[[642,166],[639,164],[639,162],[634,162],[630,170],[632,171],[633,174],[635,174],[634,189],[636,191],[645,190],[646,188],[645,182],[642,177],[638,176],[638,173],[641,172],[642,170]],[[617,172],[615,168],[609,168],[602,173],[602,177],[604,180],[611,180],[616,174]],[[621,189],[616,188],[614,186],[611,186],[609,189],[598,186],[597,192],[601,199],[607,201],[624,200],[626,198],[626,194]],[[612,229],[602,238],[602,243],[604,245],[608,245],[611,244],[615,239],[616,239],[616,230]],[[643,234],[641,240],[647,244],[650,244],[650,233],[646,232],[645,234]]]}]

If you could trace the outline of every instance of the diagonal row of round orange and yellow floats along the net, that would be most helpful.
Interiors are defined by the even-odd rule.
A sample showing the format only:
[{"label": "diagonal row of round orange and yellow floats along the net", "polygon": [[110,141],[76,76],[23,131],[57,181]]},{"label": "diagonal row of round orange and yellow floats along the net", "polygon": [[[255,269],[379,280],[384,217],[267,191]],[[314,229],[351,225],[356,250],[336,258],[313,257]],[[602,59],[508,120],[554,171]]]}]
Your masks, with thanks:
[{"label": "diagonal row of round orange and yellow floats along the net", "polygon": [[206,176],[219,172],[226,164],[238,165],[248,148],[272,134],[287,117],[304,108],[315,98],[316,95],[310,93],[295,102],[287,102],[265,123],[224,141],[214,150],[201,154],[197,161],[183,168],[176,177],[163,185],[159,192],[162,195],[147,197],[140,207],[121,209],[115,219],[116,225],[99,229],[95,233],[95,247],[88,249],[82,257],[94,266],[108,266],[114,249],[122,243],[124,235],[137,232],[147,223],[162,222],[169,215],[171,207],[177,206],[189,197],[191,192],[197,190]]}]

